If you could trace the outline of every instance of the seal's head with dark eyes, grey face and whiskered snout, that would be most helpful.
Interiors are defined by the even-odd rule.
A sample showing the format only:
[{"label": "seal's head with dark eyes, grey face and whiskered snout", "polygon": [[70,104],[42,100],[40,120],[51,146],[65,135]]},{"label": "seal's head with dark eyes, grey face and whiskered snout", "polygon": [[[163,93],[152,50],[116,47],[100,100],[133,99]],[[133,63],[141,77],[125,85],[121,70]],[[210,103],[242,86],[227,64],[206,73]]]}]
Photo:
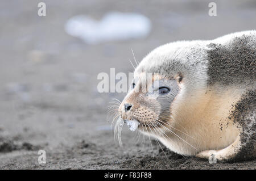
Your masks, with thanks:
[{"label": "seal's head with dark eyes, grey face and whiskered snout", "polygon": [[[156,48],[142,60],[134,71],[129,92],[118,109],[125,123],[137,122],[139,131],[156,137],[159,137],[159,129],[161,134],[174,129],[172,125],[175,124],[175,113],[179,112],[179,105],[184,103],[184,97],[195,97],[191,91],[205,85],[201,78],[204,71],[196,71],[198,64],[193,66],[195,70],[190,66],[195,60],[187,64],[193,58],[189,52],[199,49],[198,54],[203,54],[196,42],[193,45],[191,46],[191,42],[166,44]],[[193,88],[189,88],[191,85]],[[187,91],[187,88],[191,91]],[[185,104],[188,104],[189,99],[185,100]]]}]

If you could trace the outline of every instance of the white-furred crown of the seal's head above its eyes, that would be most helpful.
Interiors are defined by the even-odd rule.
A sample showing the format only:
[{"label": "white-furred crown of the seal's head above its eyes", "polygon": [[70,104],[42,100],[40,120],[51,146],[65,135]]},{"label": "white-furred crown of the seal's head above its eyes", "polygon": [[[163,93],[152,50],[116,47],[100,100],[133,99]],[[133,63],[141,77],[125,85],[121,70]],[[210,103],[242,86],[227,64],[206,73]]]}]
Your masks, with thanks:
[{"label": "white-furred crown of the seal's head above its eyes", "polygon": [[[159,73],[169,78],[187,68],[195,67],[197,62],[205,59],[204,41],[181,41],[162,45],[147,54],[134,75],[142,72]],[[185,71],[187,72],[187,71]]]}]

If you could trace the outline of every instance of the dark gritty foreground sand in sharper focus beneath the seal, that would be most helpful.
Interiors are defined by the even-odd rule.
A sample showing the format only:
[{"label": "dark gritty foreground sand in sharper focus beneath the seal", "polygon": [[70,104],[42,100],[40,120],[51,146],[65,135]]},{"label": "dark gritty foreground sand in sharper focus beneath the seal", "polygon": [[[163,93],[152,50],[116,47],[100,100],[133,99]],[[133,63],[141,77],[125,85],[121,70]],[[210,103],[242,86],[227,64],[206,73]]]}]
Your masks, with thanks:
[{"label": "dark gritty foreground sand in sharper focus beneath the seal", "polygon": [[[106,133],[105,136],[110,135]],[[46,149],[47,163],[41,165],[36,163],[37,151],[32,151],[36,146],[31,145],[2,153],[0,169],[256,169],[255,160],[210,165],[200,158],[183,157],[167,149],[162,150],[155,141],[152,141],[154,155],[148,143],[144,144],[144,149],[141,144],[134,145],[130,141],[123,148],[113,142],[107,144],[82,140],[73,146],[62,146],[62,150],[57,152]]]}]

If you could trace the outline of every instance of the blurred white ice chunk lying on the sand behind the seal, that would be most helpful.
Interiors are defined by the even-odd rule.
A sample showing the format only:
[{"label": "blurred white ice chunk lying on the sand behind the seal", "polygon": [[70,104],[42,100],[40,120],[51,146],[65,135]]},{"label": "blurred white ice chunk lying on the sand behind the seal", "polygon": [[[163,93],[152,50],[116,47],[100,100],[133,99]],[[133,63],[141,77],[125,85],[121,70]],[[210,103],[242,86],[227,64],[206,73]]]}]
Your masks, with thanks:
[{"label": "blurred white ice chunk lying on the sand behind the seal", "polygon": [[150,30],[151,22],[146,16],[121,12],[109,12],[100,21],[77,15],[65,24],[69,35],[80,37],[88,44],[145,37]]}]

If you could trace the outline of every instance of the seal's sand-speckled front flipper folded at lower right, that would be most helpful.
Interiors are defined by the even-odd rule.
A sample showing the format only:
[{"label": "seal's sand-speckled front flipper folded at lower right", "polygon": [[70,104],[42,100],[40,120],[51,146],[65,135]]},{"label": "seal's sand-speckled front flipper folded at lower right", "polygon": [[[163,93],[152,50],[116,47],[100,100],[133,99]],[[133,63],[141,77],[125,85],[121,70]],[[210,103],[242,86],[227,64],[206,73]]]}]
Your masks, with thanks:
[{"label": "seal's sand-speckled front flipper folded at lower right", "polygon": [[236,141],[221,150],[205,150],[196,155],[218,161],[245,161],[256,158],[256,91],[247,91],[230,113],[238,124],[240,135]]}]

